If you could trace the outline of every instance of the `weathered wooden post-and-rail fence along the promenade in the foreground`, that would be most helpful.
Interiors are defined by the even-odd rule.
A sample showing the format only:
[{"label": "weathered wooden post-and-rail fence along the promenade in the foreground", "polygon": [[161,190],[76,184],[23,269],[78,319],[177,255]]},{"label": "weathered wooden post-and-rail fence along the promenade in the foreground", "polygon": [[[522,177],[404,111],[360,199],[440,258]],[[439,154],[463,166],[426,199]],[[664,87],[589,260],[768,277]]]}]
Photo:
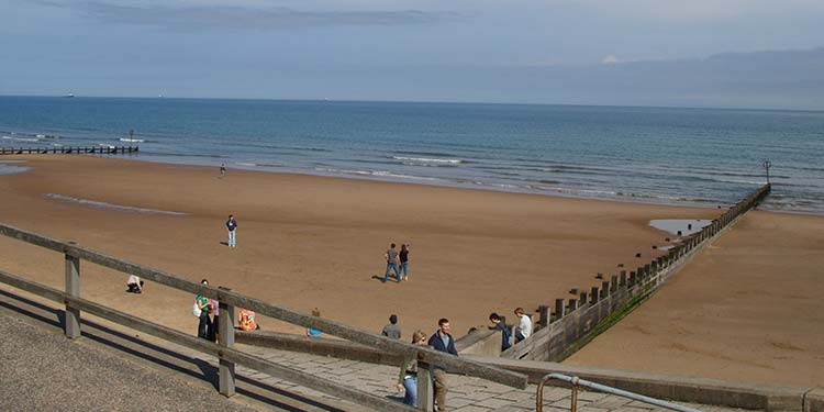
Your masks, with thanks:
[{"label": "weathered wooden post-and-rail fence along the promenade in the foreground", "polygon": [[[77,245],[74,242],[53,240],[4,224],[0,224],[0,234],[65,255],[65,291],[2,270],[0,270],[0,282],[65,304],[66,316],[64,318],[64,330],[67,337],[77,338],[81,335],[80,314],[86,312],[165,341],[201,353],[214,355],[220,360],[220,392],[226,397],[231,397],[235,393],[235,365],[243,365],[272,377],[285,379],[367,408],[385,411],[414,410],[402,403],[348,388],[332,380],[307,375],[300,370],[278,365],[235,349],[233,325],[235,307],[248,308],[266,316],[294,325],[312,327],[330,335],[343,337],[378,350],[403,356],[414,356],[421,365],[419,386],[424,385],[422,388],[423,393],[421,393],[419,389],[419,398],[422,400],[419,408],[427,408],[427,405],[431,405],[431,391],[427,389],[430,381],[427,377],[428,367],[432,365],[443,367],[450,372],[474,376],[513,388],[523,389],[527,385],[526,376],[522,374],[508,371],[476,360],[436,352],[426,346],[411,345],[397,339],[390,339],[386,336],[376,335],[341,322],[311,316],[285,307],[264,302],[259,299],[245,297],[230,289],[192,282],[158,269],[129,263],[91,250]],[[192,294],[202,294],[208,298],[216,299],[220,302],[220,311],[223,313],[223,315],[220,316],[221,323],[219,325],[220,344],[201,339],[80,298],[80,260],[93,263],[123,274],[135,275],[143,279]]]}]

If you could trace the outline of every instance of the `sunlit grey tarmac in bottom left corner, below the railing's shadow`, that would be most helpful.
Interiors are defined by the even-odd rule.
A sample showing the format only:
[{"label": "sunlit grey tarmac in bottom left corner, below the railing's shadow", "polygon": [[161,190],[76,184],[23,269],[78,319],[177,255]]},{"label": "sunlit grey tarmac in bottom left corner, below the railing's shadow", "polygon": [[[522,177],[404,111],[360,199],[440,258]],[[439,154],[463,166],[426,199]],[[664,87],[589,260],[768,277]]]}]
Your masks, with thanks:
[{"label": "sunlit grey tarmac in bottom left corner, below the railing's shadow", "polygon": [[249,411],[208,387],[0,310],[0,410]]}]

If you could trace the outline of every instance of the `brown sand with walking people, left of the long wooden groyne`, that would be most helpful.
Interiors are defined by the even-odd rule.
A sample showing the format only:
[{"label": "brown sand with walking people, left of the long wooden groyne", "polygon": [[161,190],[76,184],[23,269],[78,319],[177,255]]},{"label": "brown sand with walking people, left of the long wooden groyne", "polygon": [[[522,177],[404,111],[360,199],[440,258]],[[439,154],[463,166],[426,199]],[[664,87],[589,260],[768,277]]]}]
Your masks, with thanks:
[{"label": "brown sand with walking people, left of the long wooden groyne", "polygon": [[[452,320],[456,335],[534,310],[619,263],[648,259],[664,234],[650,219],[711,218],[709,209],[633,204],[87,156],[33,156],[0,176],[0,219],[30,231],[164,269],[208,278],[272,303],[380,331],[396,313],[404,334]],[[49,194],[51,193],[51,194]],[[58,197],[55,197],[57,194]],[[186,213],[143,213],[93,200]],[[238,221],[230,249],[224,222]],[[411,244],[410,281],[381,283],[389,243]],[[63,287],[63,257],[0,238],[0,267]],[[82,267],[82,294],[194,333],[192,297]],[[301,333],[272,320],[265,329]]]}]

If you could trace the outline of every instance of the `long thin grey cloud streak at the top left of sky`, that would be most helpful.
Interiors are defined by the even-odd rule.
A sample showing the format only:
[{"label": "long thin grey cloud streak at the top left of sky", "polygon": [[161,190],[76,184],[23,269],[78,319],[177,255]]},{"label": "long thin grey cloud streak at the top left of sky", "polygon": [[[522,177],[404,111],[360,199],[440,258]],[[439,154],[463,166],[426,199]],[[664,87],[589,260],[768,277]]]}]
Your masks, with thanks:
[{"label": "long thin grey cloud streak at the top left of sky", "polygon": [[73,9],[107,23],[154,25],[174,30],[280,30],[318,26],[396,26],[433,24],[455,20],[455,12],[420,10],[301,11],[276,7],[194,4],[133,5],[104,1],[60,2],[41,0],[41,5]]}]

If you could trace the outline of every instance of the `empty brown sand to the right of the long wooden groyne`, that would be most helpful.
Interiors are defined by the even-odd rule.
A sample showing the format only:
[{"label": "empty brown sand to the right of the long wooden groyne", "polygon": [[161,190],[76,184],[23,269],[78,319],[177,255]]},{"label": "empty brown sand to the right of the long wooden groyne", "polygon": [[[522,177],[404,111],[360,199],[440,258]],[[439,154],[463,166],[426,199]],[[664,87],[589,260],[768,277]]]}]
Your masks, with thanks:
[{"label": "empty brown sand to the right of the long wooden groyne", "polygon": [[824,218],[754,211],[566,361],[824,387]]}]

